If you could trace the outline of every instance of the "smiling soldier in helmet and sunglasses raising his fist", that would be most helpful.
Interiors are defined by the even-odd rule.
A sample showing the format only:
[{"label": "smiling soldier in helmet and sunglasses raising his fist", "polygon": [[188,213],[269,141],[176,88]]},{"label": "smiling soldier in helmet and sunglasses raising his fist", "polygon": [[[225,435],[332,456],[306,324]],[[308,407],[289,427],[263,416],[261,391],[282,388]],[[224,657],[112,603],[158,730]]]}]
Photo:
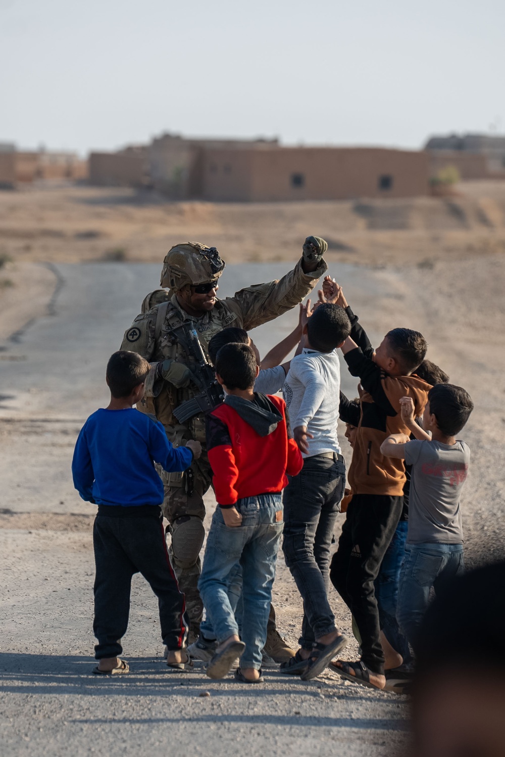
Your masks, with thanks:
[{"label": "smiling soldier in helmet and sunglasses raising his fist", "polygon": [[[188,439],[195,439],[203,445],[202,456],[184,475],[163,472],[162,476],[165,486],[163,515],[169,521],[172,534],[170,557],[186,595],[193,638],[198,637],[203,615],[197,583],[205,534],[203,495],[211,484],[212,470],[206,455],[203,413],[184,424],[179,423],[173,414],[173,410],[184,400],[194,397],[200,388],[194,382],[196,361],[170,331],[181,323],[189,323],[196,330],[207,355],[207,344],[216,332],[228,326],[254,329],[299,304],[327,270],[323,260],[326,250],[324,239],[308,237],[303,245],[302,258],[280,281],[251,285],[237,291],[232,298],[218,300],[218,278],[225,263],[216,248],[197,242],[175,245],[166,254],[161,274],[161,285],[165,288],[147,295],[141,315],[125,332],[121,349],[138,352],[151,364],[145,397],[138,409],[153,413],[163,423],[166,435],[175,447],[185,444]],[[281,642],[274,624],[270,637],[265,645],[269,654],[272,647],[278,647]]]}]

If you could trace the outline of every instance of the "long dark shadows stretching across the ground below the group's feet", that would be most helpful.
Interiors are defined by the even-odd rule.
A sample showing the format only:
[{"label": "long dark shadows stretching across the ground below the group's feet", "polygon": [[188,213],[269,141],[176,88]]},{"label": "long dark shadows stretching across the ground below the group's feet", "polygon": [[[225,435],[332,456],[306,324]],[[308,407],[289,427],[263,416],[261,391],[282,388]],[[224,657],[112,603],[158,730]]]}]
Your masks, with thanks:
[{"label": "long dark shadows stretching across the ground below the group's feet", "polygon": [[[196,666],[188,673],[167,672],[162,658],[129,657],[132,672],[127,675],[98,676],[92,674],[94,662],[85,656],[57,656],[36,654],[0,653],[0,693],[52,695],[52,696],[126,696],[144,697],[178,696],[194,699],[203,691],[209,692],[212,699],[218,697],[233,699],[236,706],[240,699],[261,696],[296,696],[304,699],[339,701],[347,705],[368,699],[366,694],[356,689],[355,692],[345,687],[345,691],[335,687],[332,681],[315,681],[302,684],[301,681],[287,681],[277,671],[265,671],[267,683],[262,687],[235,684],[233,678],[222,682],[210,681],[206,677],[203,665]],[[206,698],[204,701],[209,701]],[[244,701],[245,704],[245,701]],[[294,706],[294,705],[293,705]],[[407,731],[408,723],[404,719],[389,718],[332,718],[327,716],[305,717],[302,713],[294,715],[252,715],[244,712],[224,715],[202,714],[183,718],[113,718],[115,723],[156,724],[176,723],[181,720],[191,723],[228,722],[277,724],[277,725],[311,725],[316,727],[364,728],[380,731]],[[70,720],[69,720],[70,721]],[[76,718],[73,722],[100,723],[96,718]],[[104,723],[110,722],[110,718]]]}]

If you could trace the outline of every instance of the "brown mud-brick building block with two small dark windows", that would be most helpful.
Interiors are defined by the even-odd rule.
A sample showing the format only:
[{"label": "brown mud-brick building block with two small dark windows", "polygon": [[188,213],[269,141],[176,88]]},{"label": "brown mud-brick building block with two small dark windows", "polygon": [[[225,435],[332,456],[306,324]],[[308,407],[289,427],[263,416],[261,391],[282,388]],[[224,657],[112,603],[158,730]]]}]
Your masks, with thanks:
[{"label": "brown mud-brick building block with two small dark windows", "polygon": [[208,148],[200,197],[213,201],[404,198],[429,191],[428,156],[386,148]]}]

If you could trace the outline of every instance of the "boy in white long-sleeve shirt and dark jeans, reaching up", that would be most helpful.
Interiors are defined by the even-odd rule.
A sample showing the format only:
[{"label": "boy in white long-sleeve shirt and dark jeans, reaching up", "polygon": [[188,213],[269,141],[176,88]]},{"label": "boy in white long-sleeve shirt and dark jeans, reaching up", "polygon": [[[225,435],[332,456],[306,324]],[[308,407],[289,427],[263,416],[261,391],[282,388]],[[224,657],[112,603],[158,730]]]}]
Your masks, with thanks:
[{"label": "boy in white long-sleeve shirt and dark jeans, reaching up", "polygon": [[283,673],[310,681],[347,640],[335,626],[327,598],[330,544],[345,487],[345,462],[336,435],[340,363],[336,348],[351,332],[342,307],[324,303],[304,326],[305,347],[293,357],[283,386],[302,471],[284,490],[283,553],[303,599],[300,649]]}]

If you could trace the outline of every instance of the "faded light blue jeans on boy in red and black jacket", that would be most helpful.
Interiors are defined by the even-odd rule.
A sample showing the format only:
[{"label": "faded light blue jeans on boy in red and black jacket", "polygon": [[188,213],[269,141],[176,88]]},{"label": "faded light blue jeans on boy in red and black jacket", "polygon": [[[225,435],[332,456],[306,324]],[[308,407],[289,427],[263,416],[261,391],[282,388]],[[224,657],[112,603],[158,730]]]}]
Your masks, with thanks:
[{"label": "faded light blue jeans on boy in red and black jacket", "polygon": [[221,509],[215,509],[198,589],[218,643],[234,634],[238,635],[235,608],[228,591],[236,581],[237,565],[240,564],[242,640],[246,645],[240,665],[259,670],[267,637],[275,562],[284,525],[283,506],[280,494],[259,494],[238,500],[237,510],[242,515],[242,524],[229,528],[225,525]]}]

